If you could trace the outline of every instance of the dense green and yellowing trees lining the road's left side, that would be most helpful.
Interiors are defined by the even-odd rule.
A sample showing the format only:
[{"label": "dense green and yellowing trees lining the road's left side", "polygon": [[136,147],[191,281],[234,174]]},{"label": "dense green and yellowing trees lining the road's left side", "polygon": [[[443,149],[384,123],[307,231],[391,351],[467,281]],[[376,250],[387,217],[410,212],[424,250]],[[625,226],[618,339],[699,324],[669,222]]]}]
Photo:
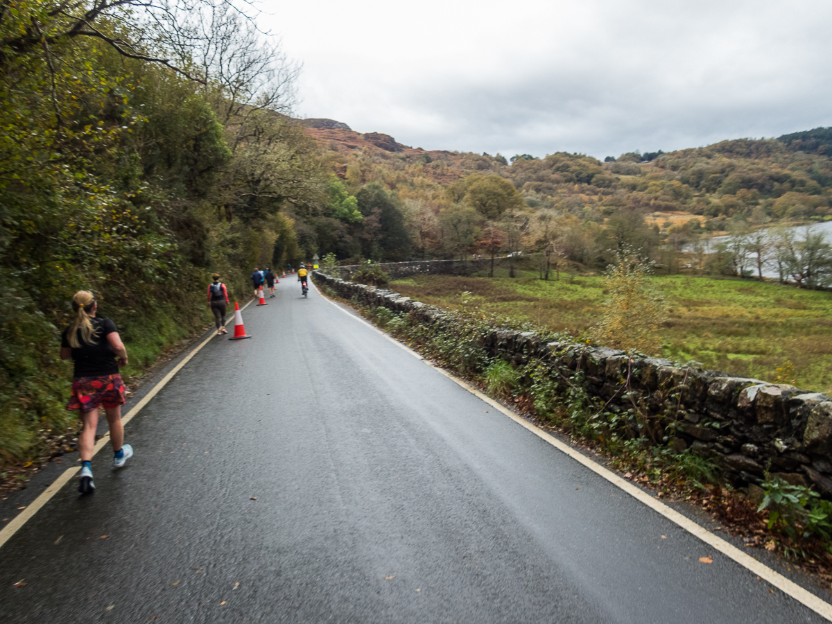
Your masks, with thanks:
[{"label": "dense green and yellowing trees lining the road's left side", "polygon": [[228,2],[0,0],[0,464],[69,422],[76,290],[141,365],[205,323],[211,272],[242,296],[300,260],[291,214],[329,171],[287,116],[296,74]]}]

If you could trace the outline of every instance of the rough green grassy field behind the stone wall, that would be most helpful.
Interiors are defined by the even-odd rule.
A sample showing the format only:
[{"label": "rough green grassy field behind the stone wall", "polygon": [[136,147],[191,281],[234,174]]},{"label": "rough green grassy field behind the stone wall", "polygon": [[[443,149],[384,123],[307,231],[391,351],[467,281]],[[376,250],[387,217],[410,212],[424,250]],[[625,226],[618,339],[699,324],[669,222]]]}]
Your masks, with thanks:
[{"label": "rough green grassy field behind the stone wall", "polygon": [[[687,275],[652,280],[668,305],[658,355],[832,395],[832,293]],[[467,291],[468,309],[576,337],[589,335],[606,299],[602,276],[544,281],[531,271],[515,279],[424,275],[390,288],[449,309],[458,309]]]}]

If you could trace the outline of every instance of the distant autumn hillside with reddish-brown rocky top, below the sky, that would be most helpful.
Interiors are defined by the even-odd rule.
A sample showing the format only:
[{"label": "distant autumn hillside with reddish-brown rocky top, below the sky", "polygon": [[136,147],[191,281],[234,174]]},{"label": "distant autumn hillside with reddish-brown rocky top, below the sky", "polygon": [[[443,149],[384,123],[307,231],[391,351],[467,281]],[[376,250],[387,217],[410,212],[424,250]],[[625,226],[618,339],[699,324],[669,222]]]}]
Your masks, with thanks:
[{"label": "distant autumn hillside with reddish-brown rocky top, below the sky", "polygon": [[[670,271],[677,260],[668,252],[715,232],[832,219],[827,153],[832,141],[825,128],[669,153],[631,152],[605,162],[566,152],[516,155],[509,162],[499,154],[425,151],[341,122],[309,121],[305,132],[326,152],[344,192],[356,196],[375,184],[390,194],[413,241],[404,254],[409,257],[453,257],[497,247],[505,252],[506,228],[514,227],[522,239],[515,246],[525,251],[551,250],[557,239],[558,255],[601,267],[607,249],[627,243],[647,250]],[[487,215],[482,201],[477,206],[473,200],[471,185],[482,197],[495,191],[500,179],[513,186],[522,206],[508,210],[492,198]],[[463,218],[465,208],[480,218]],[[461,218],[464,235],[452,223]],[[557,221],[555,235],[541,233],[548,229],[541,219]],[[488,235],[489,227],[493,234],[498,225],[499,245]],[[338,245],[329,251],[339,258],[355,255]],[[736,273],[736,263],[728,264],[719,270]]]}]

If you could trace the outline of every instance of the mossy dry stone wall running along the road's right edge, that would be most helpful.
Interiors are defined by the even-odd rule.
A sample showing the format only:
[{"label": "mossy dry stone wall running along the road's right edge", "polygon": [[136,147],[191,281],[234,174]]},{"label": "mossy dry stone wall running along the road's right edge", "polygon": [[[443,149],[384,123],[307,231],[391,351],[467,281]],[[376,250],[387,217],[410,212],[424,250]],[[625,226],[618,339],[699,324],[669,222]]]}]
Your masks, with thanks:
[{"label": "mossy dry stone wall running along the road's right edge", "polygon": [[[401,264],[414,265],[417,271],[423,266]],[[455,313],[392,290],[319,271],[314,279],[345,299],[413,314],[437,329],[454,322]],[[676,450],[691,448],[711,458],[730,483],[759,484],[767,469],[789,483],[814,485],[824,498],[832,498],[832,399],[825,394],[715,370],[677,367],[666,359],[629,358],[606,347],[550,342],[532,332],[494,330],[481,339],[493,358],[517,365],[550,364],[553,379],[559,376],[557,369],[583,371],[590,394],[608,401],[613,409],[627,409],[631,404],[622,390],[634,391],[636,403],[646,406],[652,416],[673,414],[678,424],[671,444]]]}]

